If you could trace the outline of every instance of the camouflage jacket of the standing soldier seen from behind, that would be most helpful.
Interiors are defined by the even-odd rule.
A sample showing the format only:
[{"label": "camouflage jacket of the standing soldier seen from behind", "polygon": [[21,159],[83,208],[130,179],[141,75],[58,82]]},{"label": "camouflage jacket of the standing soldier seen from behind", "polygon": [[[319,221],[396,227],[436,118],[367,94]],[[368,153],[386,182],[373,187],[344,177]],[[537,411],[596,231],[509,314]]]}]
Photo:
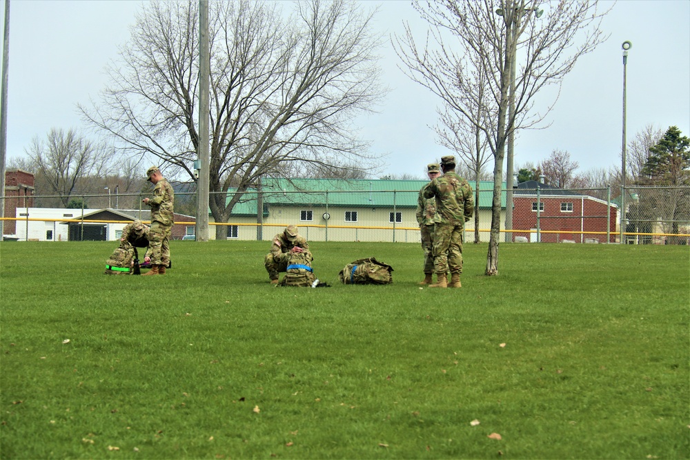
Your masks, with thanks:
[{"label": "camouflage jacket of the standing soldier seen from behind", "polygon": [[472,187],[454,171],[437,177],[424,189],[425,198],[436,198],[435,223],[464,225],[474,214]]}]

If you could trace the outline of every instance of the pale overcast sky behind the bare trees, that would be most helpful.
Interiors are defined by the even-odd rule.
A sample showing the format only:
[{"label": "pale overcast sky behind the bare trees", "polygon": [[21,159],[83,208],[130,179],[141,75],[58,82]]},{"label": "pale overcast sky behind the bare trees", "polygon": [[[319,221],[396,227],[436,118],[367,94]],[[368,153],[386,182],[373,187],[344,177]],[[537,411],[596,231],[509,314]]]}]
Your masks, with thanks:
[{"label": "pale overcast sky behind the bare trees", "polygon": [[[402,21],[410,21],[420,37],[426,34],[408,0],[362,3],[381,3],[375,24],[386,36],[402,34]],[[31,139],[44,138],[50,128],[82,126],[75,106],[97,98],[106,84],[103,68],[117,59],[118,46],[128,40],[134,13],[141,8],[141,1],[133,0],[10,4],[8,161],[23,157]],[[3,23],[4,11],[3,2]],[[566,76],[544,123],[550,126],[520,133],[516,165],[539,163],[558,149],[571,154],[580,172],[620,168],[621,44],[626,40],[633,43],[627,64],[628,141],[649,124],[663,130],[675,125],[690,136],[690,1],[620,0],[602,28],[611,37],[580,58]],[[373,141],[375,154],[385,155],[384,174],[422,178],[426,163],[450,153],[438,146],[429,128],[437,121],[439,101],[402,73],[389,40],[381,54],[384,83],[391,92],[379,113],[363,119],[362,136]]]}]

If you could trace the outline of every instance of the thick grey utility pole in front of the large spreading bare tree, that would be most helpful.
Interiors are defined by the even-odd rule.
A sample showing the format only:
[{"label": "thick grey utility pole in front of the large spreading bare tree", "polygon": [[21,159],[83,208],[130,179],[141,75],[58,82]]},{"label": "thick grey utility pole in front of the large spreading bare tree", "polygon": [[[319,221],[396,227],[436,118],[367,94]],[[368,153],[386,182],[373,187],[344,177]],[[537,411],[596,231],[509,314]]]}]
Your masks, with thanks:
[{"label": "thick grey utility pole in front of the large spreading bare tree", "polygon": [[197,177],[197,241],[208,241],[208,0],[199,0],[199,177]]}]

